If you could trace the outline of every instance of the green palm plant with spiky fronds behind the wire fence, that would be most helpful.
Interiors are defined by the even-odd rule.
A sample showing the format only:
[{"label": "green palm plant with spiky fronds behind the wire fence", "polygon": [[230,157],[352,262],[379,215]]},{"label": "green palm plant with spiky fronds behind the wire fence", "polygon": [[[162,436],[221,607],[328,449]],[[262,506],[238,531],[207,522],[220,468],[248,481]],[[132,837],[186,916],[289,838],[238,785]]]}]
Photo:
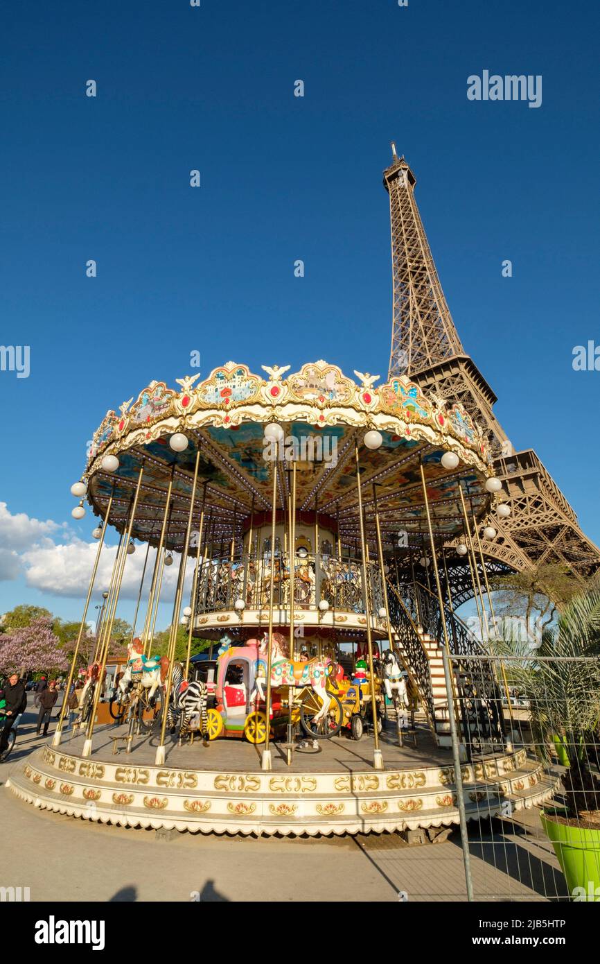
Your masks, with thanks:
[{"label": "green palm plant with spiky fronds behind the wire fence", "polygon": [[529,700],[532,730],[542,756],[559,736],[568,758],[563,786],[570,817],[600,810],[600,586],[566,603],[538,648],[518,652],[496,641],[497,656],[511,660],[511,681]]}]

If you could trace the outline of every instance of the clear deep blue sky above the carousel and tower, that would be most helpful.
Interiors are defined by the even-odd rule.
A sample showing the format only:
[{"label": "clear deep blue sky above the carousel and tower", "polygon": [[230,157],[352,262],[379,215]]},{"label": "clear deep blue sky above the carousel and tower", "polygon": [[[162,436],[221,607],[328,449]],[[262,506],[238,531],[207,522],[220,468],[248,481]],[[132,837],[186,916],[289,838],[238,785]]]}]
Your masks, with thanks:
[{"label": "clear deep blue sky above the carousel and tower", "polygon": [[[497,415],[599,542],[600,372],[571,364],[600,344],[599,20],[582,0],[5,7],[0,340],[30,346],[31,374],[0,372],[0,611],[80,615],[86,442],[192,351],[203,376],[320,358],[385,375],[392,139]],[[483,69],[540,74],[542,105],[469,101]]]}]

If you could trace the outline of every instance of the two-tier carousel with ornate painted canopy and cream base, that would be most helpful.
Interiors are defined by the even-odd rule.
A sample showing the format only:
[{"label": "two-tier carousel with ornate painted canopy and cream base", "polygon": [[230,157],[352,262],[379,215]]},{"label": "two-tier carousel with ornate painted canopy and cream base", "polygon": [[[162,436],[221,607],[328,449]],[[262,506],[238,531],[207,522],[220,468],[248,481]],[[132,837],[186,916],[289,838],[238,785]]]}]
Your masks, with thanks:
[{"label": "two-tier carousel with ornate painted canopy and cream base", "polygon": [[[69,686],[109,526],[118,548],[79,727],[61,715],[13,770],[23,799],[124,826],[433,839],[551,794],[447,578],[466,556],[483,621],[481,521],[506,506],[482,433],[405,377],[289,368],[152,382],[95,432],[71,488],[98,546]],[[107,676],[136,548],[134,627]]]}]

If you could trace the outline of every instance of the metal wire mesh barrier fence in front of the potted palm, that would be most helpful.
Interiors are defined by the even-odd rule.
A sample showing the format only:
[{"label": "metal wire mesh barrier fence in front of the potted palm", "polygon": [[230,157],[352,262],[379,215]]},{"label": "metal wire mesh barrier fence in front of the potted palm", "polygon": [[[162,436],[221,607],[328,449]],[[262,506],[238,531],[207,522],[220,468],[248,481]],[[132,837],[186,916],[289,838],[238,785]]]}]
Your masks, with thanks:
[{"label": "metal wire mesh barrier fence in front of the potted palm", "polygon": [[468,899],[600,902],[600,657],[450,654],[444,664],[447,679],[508,685],[492,697],[502,754],[484,752],[492,708],[480,708],[481,732],[472,717],[471,746],[450,713]]}]

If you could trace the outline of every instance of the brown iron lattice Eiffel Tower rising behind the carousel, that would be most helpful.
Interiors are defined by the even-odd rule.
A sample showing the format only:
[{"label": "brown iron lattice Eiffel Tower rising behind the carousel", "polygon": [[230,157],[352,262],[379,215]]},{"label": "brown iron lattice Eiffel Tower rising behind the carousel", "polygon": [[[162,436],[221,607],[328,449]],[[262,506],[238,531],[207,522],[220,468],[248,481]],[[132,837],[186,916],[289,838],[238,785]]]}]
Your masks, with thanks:
[{"label": "brown iron lattice Eiffel Tower rising behind the carousel", "polygon": [[[416,178],[392,145],[383,172],[392,237],[393,327],[388,378],[405,374],[424,393],[460,402],[481,426],[494,471],[508,495],[509,519],[486,521],[497,530],[484,544],[491,574],[559,563],[579,580],[600,568],[600,549],[582,532],[575,512],[534,449],[514,451],[493,413],[496,395],[466,354],[437,277],[414,198]],[[472,596],[468,566],[457,557],[450,573],[456,603]]]}]

